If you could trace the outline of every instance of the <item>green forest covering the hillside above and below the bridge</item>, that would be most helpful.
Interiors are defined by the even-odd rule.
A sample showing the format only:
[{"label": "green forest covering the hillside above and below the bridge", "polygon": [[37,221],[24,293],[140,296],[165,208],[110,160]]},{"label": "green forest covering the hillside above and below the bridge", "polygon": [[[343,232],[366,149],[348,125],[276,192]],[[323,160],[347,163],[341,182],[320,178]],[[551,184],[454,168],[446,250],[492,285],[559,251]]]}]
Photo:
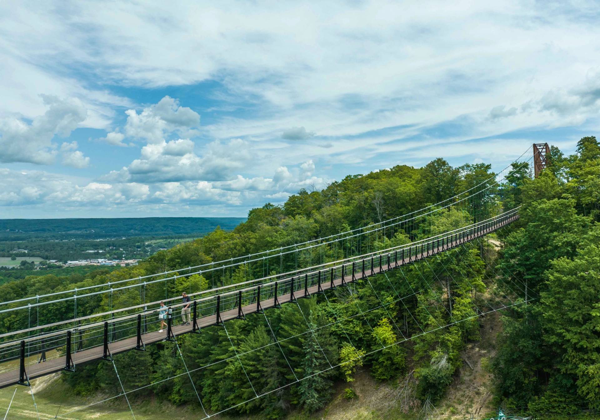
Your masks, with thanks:
[{"label": "green forest covering the hillside above and below the bridge", "polygon": [[[0,295],[7,301],[308,241],[407,214],[493,178],[488,164],[452,167],[442,158],[421,168],[399,165],[351,175],[322,191],[301,190],[284,205],[267,203],[232,230],[215,229],[158,251],[135,267],[67,276],[32,273],[0,285]],[[376,383],[397,390],[397,418],[428,416],[457,378],[466,347],[481,340],[479,316],[506,307],[493,357],[486,362],[493,376],[493,405],[544,418],[599,411],[598,140],[583,137],[573,155],[552,146],[548,167],[538,178],[533,179],[530,167],[515,168],[488,193],[502,191],[518,192],[503,197],[521,205],[520,219],[488,240],[224,327],[211,326],[178,337],[177,343],[121,353],[114,367],[91,362],[62,373],[61,380],[73,395],[119,395],[118,370],[125,389],[142,388],[130,394],[133,409],[152,399],[193,406],[199,413],[226,410],[228,415],[269,419],[317,413],[315,418],[321,418],[319,410],[331,403],[336,389],[343,389],[349,403],[361,398],[353,383],[359,371],[367,371]],[[479,208],[477,218],[484,220],[496,210],[493,205]],[[428,216],[418,229],[375,236],[366,246],[376,250],[405,244],[464,226],[474,217],[473,209],[448,208]],[[344,256],[344,250],[328,252],[329,260]],[[276,271],[267,272],[271,270]],[[260,267],[242,265],[217,278],[196,274],[177,279],[161,293],[175,296],[260,275]],[[98,297],[80,311],[108,310],[130,298],[127,293],[115,293],[110,302]],[[39,320],[67,317],[68,309],[64,311],[40,314]],[[8,314],[0,329],[10,331],[22,323]]]}]

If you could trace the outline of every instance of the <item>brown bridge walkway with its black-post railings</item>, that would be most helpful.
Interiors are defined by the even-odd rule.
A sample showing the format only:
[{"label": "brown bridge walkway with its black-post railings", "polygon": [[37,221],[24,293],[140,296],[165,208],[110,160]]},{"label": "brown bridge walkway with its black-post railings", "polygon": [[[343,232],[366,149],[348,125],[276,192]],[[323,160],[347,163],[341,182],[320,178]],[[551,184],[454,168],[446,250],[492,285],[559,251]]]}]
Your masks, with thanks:
[{"label": "brown bridge walkway with its black-post railings", "polygon": [[[245,313],[276,307],[284,302],[308,297],[311,293],[343,286],[358,278],[378,274],[395,266],[449,250],[487,235],[517,218],[518,209],[514,209],[490,220],[423,241],[313,266],[292,275],[271,276],[262,282],[232,285],[235,286],[233,290],[217,290],[216,294],[211,296],[193,293],[190,295],[193,298],[191,329],[197,331],[206,325],[243,317]],[[0,374],[3,371],[24,370],[44,359],[64,359],[64,367],[68,369],[70,364],[73,364],[74,355],[85,354],[83,361],[107,357],[113,350],[143,346],[144,338],[152,334],[154,341],[169,339],[172,335],[179,334],[178,331],[173,331],[181,327],[175,327],[174,324],[185,303],[169,305],[168,325],[164,336],[157,335],[160,329],[159,309],[148,309],[148,305],[3,334],[0,337],[4,340],[0,343]],[[190,328],[182,330],[189,331]],[[131,342],[128,343],[127,340]]]}]

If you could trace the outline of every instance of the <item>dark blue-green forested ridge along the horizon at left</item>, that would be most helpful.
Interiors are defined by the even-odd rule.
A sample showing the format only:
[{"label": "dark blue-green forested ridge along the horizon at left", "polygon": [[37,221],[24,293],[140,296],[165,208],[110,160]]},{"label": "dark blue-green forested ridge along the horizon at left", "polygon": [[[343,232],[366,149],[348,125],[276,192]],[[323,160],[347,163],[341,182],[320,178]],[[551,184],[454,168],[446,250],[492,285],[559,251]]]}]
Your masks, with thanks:
[{"label": "dark blue-green forested ridge along the horizon at left", "polygon": [[245,217],[0,219],[0,241],[34,237],[95,239],[193,235],[211,232],[217,226],[230,230],[245,220]]}]

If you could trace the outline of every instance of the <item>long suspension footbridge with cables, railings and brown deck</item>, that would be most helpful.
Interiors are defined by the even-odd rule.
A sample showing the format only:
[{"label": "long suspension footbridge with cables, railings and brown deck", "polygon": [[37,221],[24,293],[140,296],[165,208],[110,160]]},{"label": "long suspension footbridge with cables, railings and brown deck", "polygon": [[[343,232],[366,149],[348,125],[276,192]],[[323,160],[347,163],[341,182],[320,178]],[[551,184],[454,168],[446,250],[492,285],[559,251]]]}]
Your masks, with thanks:
[{"label": "long suspension footbridge with cables, railings and brown deck", "polygon": [[[297,304],[298,299],[325,295],[328,290],[349,286],[361,279],[368,281],[371,276],[401,269],[421,260],[427,261],[440,253],[464,247],[468,242],[481,240],[519,218],[520,206],[515,197],[520,191],[510,185],[507,179],[515,172],[528,170],[530,162],[533,162],[537,176],[549,157],[547,145],[533,145],[511,166],[469,190],[371,226],[199,266],[0,302],[0,314],[13,316],[20,322],[14,325],[22,327],[0,334],[0,388],[30,386],[29,381],[37,377],[58,371],[74,371],[77,366],[98,359],[112,361],[112,356],[117,353],[145,350],[152,343],[173,341],[176,344],[179,335],[200,334],[202,329],[224,326],[228,320],[244,319],[253,313],[264,314],[268,308],[279,308],[287,303]],[[428,228],[433,217],[451,209],[469,214],[469,223],[443,233],[431,233]],[[397,233],[406,233],[410,242],[392,245]],[[390,246],[369,249],[374,243],[373,235],[379,242]],[[313,257],[316,261],[313,261]],[[227,270],[231,274],[235,268],[247,268],[250,278],[227,284]],[[169,296],[167,284],[190,278],[194,274],[212,275],[212,287],[208,290],[190,290],[191,323],[175,325],[176,314],[187,303],[178,302],[181,296]],[[515,283],[514,286],[523,291],[520,287],[523,284]],[[163,287],[164,298],[160,295]],[[416,293],[413,291],[413,295]],[[526,289],[524,293],[524,299],[511,304],[531,300],[527,297]],[[115,296],[119,296],[119,299]],[[403,302],[407,297],[398,295],[399,299],[395,302]],[[89,303],[97,299],[107,299],[110,310],[101,313],[90,310]],[[162,332],[158,331],[157,319],[157,306],[161,301],[168,305],[167,327]],[[389,305],[380,304],[384,308]],[[67,305],[73,305],[72,316],[64,310]],[[488,304],[490,310],[478,308],[477,316],[508,306],[503,303],[500,306]],[[57,319],[59,314],[62,319]],[[455,320],[453,323],[461,321]],[[440,325],[440,328],[443,327]],[[314,331],[311,332],[314,334]],[[403,338],[410,339],[404,335]],[[279,343],[275,339],[273,344]],[[124,388],[122,391],[125,398],[133,392]],[[256,394],[256,397],[260,395]],[[205,410],[205,414],[210,417],[217,413],[209,415]]]}]

